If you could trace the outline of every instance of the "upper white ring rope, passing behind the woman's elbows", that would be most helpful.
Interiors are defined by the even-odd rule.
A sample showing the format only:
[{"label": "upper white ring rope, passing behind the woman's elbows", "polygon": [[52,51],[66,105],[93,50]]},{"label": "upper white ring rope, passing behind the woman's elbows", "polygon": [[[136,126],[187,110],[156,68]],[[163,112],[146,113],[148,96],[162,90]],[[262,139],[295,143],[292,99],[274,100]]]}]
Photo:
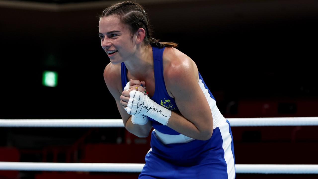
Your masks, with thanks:
[{"label": "upper white ring rope, passing behind the woman's elbows", "polygon": [[[318,125],[318,117],[228,118],[235,126]],[[124,127],[121,119],[0,119],[0,127]]]}]

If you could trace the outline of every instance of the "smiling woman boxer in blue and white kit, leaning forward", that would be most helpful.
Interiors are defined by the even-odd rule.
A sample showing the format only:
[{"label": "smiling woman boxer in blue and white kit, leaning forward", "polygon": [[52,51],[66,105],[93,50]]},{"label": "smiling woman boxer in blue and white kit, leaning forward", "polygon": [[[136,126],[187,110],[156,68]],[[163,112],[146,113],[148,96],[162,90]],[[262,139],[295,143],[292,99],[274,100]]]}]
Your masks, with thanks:
[{"label": "smiling woman boxer in blue and white kit, leaning forward", "polygon": [[235,178],[228,120],[194,61],[176,43],[151,37],[142,6],[106,8],[99,36],[110,59],[104,79],[125,128],[138,137],[155,128],[139,178]]}]

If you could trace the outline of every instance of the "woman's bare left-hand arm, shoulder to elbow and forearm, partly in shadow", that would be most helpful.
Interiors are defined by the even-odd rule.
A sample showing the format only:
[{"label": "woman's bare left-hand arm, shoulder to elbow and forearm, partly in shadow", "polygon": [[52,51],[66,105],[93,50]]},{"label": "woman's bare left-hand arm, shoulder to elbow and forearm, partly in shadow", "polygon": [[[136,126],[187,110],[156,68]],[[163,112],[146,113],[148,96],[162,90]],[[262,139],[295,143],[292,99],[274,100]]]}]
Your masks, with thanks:
[{"label": "woman's bare left-hand arm, shoulder to elbow and forearm, partly in shadow", "polygon": [[129,115],[121,106],[121,74],[120,74],[120,64],[109,63],[104,70],[104,80],[107,85],[108,90],[114,97],[118,111],[123,120],[124,126],[127,131],[133,133],[138,137],[147,137],[151,130],[151,122],[149,121],[145,125],[137,125],[131,122],[131,115]]}]

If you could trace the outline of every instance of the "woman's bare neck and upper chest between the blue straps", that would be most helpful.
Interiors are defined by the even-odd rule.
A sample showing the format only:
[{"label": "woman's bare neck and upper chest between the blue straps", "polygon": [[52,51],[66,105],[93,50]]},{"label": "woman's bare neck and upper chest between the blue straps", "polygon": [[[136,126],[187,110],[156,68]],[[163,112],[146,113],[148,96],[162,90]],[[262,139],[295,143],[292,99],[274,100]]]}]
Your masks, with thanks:
[{"label": "woman's bare neck and upper chest between the blue straps", "polygon": [[130,75],[136,78],[142,77],[148,70],[153,69],[154,61],[152,56],[152,47],[150,45],[147,47],[138,47],[134,56],[127,61],[124,61],[124,63]]}]

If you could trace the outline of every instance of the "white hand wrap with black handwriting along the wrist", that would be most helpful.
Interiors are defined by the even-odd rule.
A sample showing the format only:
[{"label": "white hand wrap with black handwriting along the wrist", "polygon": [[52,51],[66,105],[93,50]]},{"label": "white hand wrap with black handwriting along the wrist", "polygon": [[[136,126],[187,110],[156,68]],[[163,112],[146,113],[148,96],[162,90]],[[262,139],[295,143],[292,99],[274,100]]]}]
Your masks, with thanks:
[{"label": "white hand wrap with black handwriting along the wrist", "polygon": [[163,125],[168,124],[169,118],[171,116],[170,110],[157,104],[140,91],[132,90],[130,91],[129,96],[130,98],[126,110],[128,114],[144,114]]}]

